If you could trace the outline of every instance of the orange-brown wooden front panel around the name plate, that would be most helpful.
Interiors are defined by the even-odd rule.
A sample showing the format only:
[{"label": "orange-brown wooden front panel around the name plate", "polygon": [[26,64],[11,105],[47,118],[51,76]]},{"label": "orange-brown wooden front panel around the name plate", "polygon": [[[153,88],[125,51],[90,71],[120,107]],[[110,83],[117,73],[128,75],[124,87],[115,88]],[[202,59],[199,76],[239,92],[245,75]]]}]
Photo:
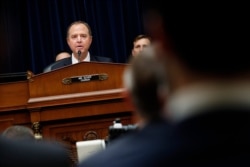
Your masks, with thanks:
[{"label": "orange-brown wooden front panel around the name plate", "polygon": [[[81,62],[48,73],[36,75],[29,83],[30,97],[65,95],[80,92],[92,92],[122,87],[122,73],[127,64]],[[62,83],[64,78],[73,76],[102,74],[107,80],[78,82],[70,85]]]}]

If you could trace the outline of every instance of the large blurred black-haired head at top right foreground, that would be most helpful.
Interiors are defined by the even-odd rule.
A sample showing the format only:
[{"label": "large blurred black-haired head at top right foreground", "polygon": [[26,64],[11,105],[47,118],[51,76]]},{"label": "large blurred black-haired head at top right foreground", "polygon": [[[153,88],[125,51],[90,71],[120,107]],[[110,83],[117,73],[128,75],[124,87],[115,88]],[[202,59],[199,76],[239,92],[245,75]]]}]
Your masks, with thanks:
[{"label": "large blurred black-haired head at top right foreground", "polygon": [[149,0],[144,23],[153,40],[159,38],[153,26],[160,13],[168,47],[178,58],[192,70],[223,76],[250,69],[247,11],[235,2]]}]

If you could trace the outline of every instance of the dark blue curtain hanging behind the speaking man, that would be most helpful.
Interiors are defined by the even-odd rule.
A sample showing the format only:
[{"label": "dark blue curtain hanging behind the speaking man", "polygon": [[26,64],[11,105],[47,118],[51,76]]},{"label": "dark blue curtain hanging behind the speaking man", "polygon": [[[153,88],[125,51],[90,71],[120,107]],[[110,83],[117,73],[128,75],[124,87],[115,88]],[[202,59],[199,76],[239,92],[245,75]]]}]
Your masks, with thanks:
[{"label": "dark blue curtain hanging behind the speaking man", "polygon": [[68,51],[66,29],[90,24],[90,53],[126,63],[132,41],[144,33],[142,0],[1,0],[0,74],[42,73],[61,51]]}]

